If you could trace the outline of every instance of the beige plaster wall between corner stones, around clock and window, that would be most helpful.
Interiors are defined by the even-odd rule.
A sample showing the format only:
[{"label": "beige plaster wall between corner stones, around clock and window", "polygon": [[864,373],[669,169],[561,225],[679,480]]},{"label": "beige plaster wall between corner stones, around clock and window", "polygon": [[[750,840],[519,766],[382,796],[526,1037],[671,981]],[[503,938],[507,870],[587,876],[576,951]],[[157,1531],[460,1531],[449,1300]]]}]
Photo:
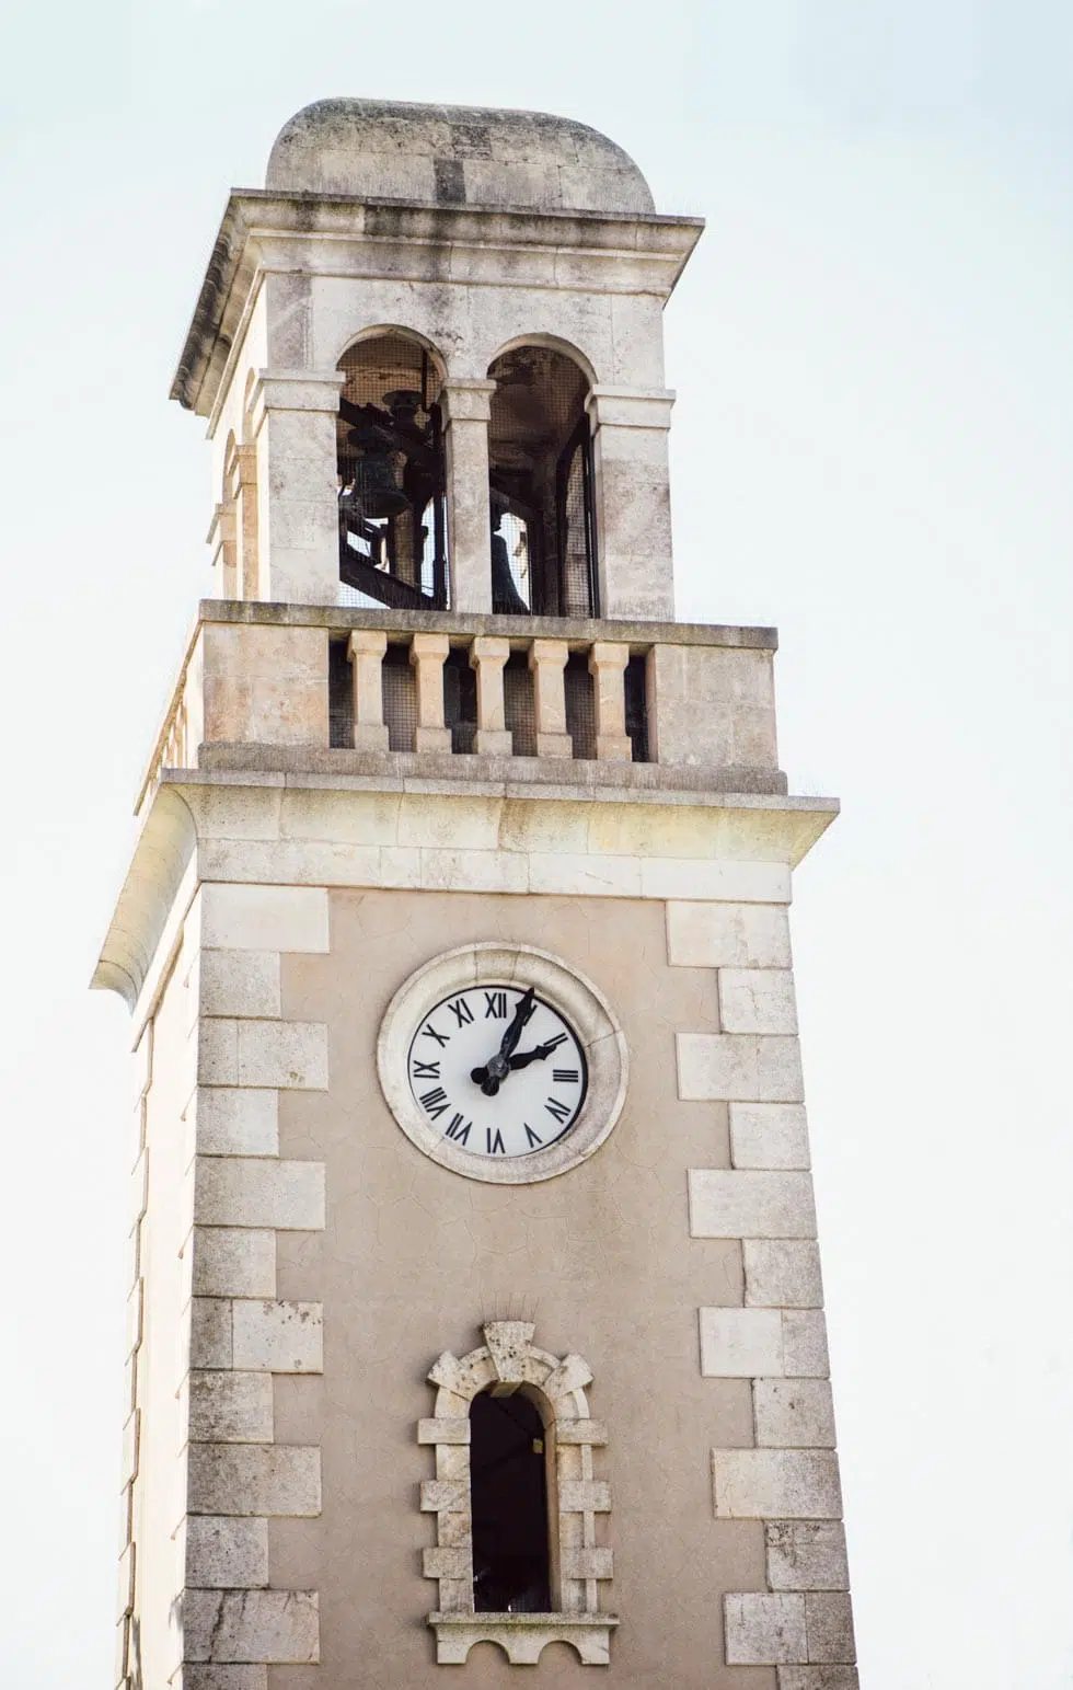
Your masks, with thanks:
[{"label": "beige plaster wall between corner stones, around clock and window", "polygon": [[[602,1587],[622,1624],[615,1685],[774,1690],[774,1668],[720,1666],[722,1595],[764,1590],[764,1526],[715,1519],[710,1452],[754,1442],[747,1379],[703,1377],[698,1306],[742,1305],[742,1246],[691,1239],[686,1169],[730,1163],[727,1105],[679,1102],[674,1033],[718,1031],[710,968],[667,967],[659,901],[439,892],[331,894],[331,953],[287,955],[282,1014],[326,1022],[331,1088],[281,1095],[281,1154],[323,1159],[324,1234],[279,1235],[277,1295],[321,1300],[323,1379],[274,1379],[275,1440],[319,1443],[323,1516],[270,1523],[275,1587],[319,1590],[321,1666],[274,1666],[270,1690],[395,1687],[444,1675],[507,1685],[585,1685],[554,1644],[532,1670],[482,1644],[465,1668],[434,1665],[421,1575],[433,1519],[417,1509],[431,1452],[424,1376],[444,1349],[480,1342],[487,1318],[536,1322],[536,1344],[578,1350],[610,1445]],[[468,1181],[404,1137],[375,1078],[380,1016],[407,973],[470,940],[514,940],[581,967],[615,1006],[630,1093],[610,1141],[583,1168],[537,1186]]]}]

